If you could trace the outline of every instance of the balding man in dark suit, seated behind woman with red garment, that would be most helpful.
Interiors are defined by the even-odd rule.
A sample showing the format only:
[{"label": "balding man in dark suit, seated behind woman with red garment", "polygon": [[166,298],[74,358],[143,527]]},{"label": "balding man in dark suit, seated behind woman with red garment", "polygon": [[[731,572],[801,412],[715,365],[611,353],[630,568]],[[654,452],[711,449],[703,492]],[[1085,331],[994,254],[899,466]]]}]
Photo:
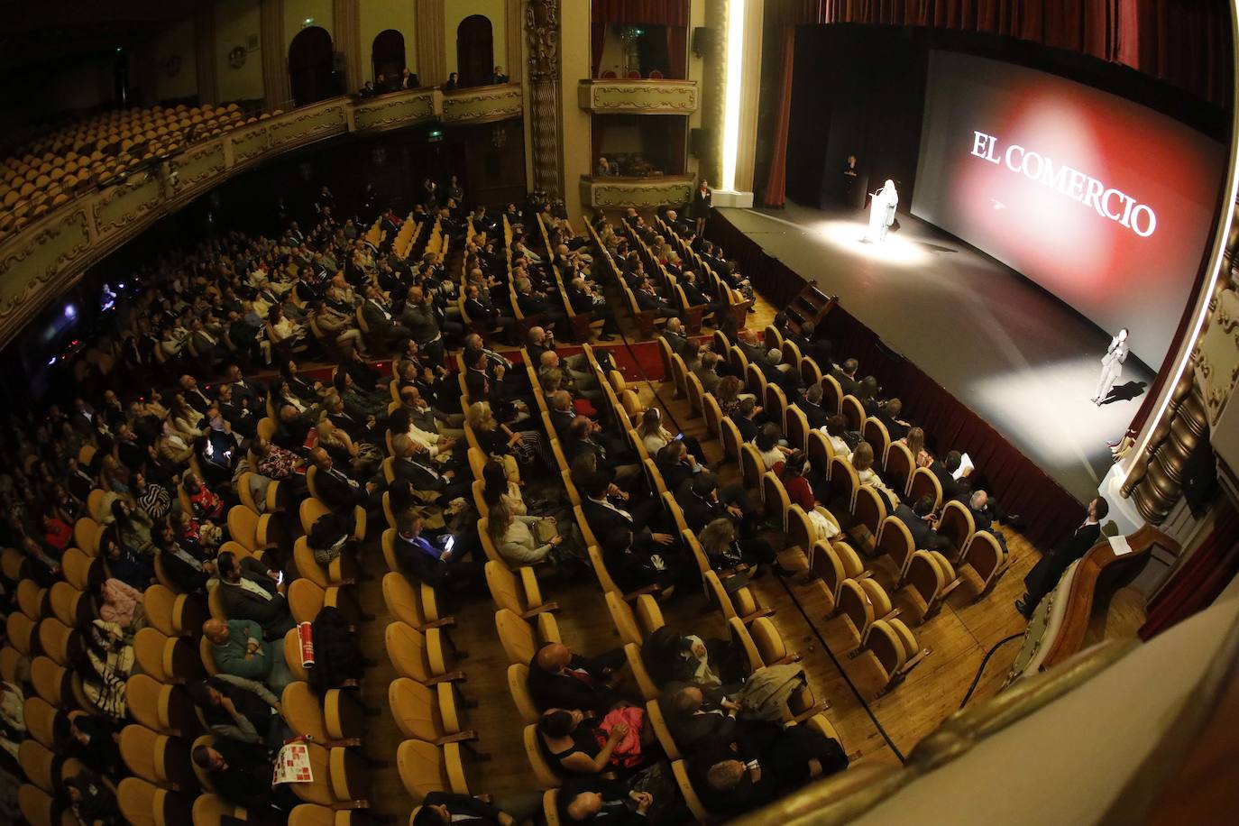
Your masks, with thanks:
[{"label": "balding man in dark suit, seated behind woman with red garment", "polygon": [[624,700],[612,686],[623,665],[623,649],[587,658],[546,643],[529,661],[529,693],[543,710],[580,708],[602,717]]}]

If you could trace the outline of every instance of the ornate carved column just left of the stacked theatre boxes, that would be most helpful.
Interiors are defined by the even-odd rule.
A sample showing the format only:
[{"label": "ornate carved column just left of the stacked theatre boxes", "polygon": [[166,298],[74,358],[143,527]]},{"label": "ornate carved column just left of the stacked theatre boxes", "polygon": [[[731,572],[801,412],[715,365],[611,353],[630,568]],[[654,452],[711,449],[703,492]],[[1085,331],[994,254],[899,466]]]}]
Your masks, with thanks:
[{"label": "ornate carved column just left of the stacked theatre boxes", "polygon": [[533,133],[535,189],[551,198],[564,194],[559,80],[559,0],[529,0],[529,119]]}]

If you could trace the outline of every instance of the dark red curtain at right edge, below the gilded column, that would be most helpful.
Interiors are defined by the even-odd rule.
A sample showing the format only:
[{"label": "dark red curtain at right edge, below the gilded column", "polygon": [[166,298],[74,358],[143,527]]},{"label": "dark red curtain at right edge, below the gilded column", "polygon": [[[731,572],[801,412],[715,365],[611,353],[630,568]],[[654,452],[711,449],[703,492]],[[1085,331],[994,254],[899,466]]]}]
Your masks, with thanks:
[{"label": "dark red curtain at right edge, below the gilded column", "polygon": [[1140,639],[1152,639],[1208,608],[1239,573],[1239,514],[1224,497],[1214,513],[1213,533],[1150,601]]}]

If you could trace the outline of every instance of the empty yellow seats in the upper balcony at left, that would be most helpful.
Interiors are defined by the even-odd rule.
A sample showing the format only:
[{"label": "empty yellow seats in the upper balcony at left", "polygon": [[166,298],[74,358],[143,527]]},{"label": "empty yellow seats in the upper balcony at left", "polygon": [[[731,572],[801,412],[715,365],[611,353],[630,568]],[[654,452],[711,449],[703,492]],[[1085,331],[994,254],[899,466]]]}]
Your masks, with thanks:
[{"label": "empty yellow seats in the upper balcony at left", "polygon": [[0,165],[0,204],[5,208],[0,238],[78,193],[245,123],[235,103],[154,107],[94,115],[45,135]]}]

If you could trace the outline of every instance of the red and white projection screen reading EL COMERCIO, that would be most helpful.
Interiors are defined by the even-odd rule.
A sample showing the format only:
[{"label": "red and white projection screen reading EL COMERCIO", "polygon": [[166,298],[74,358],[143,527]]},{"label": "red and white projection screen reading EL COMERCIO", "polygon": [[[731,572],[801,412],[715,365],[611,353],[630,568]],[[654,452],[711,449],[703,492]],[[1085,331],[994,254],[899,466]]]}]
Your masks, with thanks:
[{"label": "red and white projection screen reading EL COMERCIO", "polygon": [[1063,78],[933,52],[912,212],[1022,272],[1156,368],[1213,219],[1220,144]]}]

